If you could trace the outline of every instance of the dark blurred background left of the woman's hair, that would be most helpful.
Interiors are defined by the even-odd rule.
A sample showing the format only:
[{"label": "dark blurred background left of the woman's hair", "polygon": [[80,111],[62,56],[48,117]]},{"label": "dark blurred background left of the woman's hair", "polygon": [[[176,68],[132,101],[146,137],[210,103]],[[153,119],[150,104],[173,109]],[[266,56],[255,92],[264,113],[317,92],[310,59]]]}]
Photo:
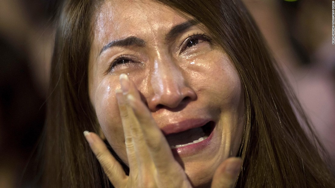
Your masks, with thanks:
[{"label": "dark blurred background left of the woman's hair", "polygon": [[[36,187],[56,0],[0,2],[0,187]],[[22,174],[25,172],[25,176]]]}]

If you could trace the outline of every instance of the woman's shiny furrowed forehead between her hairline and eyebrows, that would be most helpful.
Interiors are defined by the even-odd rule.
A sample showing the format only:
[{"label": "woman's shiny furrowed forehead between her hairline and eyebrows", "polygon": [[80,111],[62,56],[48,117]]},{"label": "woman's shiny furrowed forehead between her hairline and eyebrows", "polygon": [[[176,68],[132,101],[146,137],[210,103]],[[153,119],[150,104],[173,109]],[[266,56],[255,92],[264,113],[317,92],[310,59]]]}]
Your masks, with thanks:
[{"label": "woman's shiny furrowed forehead between her hairline and eyebrows", "polygon": [[94,38],[103,41],[150,32],[164,34],[185,21],[175,10],[155,1],[107,0],[97,12]]}]

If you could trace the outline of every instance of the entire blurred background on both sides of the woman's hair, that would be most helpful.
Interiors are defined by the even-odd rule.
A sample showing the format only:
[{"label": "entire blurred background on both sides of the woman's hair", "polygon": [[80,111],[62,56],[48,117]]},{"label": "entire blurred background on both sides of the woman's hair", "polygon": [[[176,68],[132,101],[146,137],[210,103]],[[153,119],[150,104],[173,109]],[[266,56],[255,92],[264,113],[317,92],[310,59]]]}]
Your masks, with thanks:
[{"label": "entire blurred background on both sides of the woman's hair", "polygon": [[[331,1],[243,1],[335,161]],[[54,20],[60,3],[0,2],[1,188],[39,187],[36,146],[44,125]]]}]

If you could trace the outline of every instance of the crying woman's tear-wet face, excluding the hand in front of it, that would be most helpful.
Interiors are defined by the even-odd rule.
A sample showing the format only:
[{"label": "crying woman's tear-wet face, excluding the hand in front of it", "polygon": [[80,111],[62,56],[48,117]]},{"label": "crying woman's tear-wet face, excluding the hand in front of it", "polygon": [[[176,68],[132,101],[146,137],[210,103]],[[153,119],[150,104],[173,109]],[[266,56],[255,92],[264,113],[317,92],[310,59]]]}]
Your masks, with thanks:
[{"label": "crying woman's tear-wet face, excluding the hand in front of it", "polygon": [[[243,132],[239,75],[208,30],[152,1],[105,1],[96,14],[89,96],[102,132],[126,163],[115,90],[128,74],[193,185],[236,156]],[[208,137],[208,138],[207,138]]]}]

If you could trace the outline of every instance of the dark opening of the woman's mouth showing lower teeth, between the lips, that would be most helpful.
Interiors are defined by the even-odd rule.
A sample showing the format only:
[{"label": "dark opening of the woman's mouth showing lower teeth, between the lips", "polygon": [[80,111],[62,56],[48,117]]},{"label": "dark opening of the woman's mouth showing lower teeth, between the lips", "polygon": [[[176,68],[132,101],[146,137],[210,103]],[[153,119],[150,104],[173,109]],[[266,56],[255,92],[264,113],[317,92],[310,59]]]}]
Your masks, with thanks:
[{"label": "dark opening of the woman's mouth showing lower teeth, between the lips", "polygon": [[201,127],[166,135],[165,138],[171,149],[180,148],[204,141],[213,132],[214,126],[215,123],[210,121]]}]

